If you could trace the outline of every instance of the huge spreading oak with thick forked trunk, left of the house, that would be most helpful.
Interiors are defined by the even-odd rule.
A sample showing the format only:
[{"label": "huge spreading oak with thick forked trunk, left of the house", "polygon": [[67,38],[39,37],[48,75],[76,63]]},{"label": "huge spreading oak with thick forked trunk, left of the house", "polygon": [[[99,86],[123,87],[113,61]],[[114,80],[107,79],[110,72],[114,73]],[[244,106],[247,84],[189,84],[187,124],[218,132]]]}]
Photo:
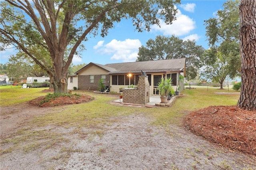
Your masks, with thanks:
[{"label": "huge spreading oak with thick forked trunk, left of the house", "polygon": [[[67,93],[68,67],[82,42],[102,37],[115,22],[131,18],[136,30],[175,18],[180,0],[6,0],[0,3],[0,42],[27,53],[50,77],[54,93]],[[90,36],[89,36],[90,35]],[[32,49],[44,48],[52,65]]]}]

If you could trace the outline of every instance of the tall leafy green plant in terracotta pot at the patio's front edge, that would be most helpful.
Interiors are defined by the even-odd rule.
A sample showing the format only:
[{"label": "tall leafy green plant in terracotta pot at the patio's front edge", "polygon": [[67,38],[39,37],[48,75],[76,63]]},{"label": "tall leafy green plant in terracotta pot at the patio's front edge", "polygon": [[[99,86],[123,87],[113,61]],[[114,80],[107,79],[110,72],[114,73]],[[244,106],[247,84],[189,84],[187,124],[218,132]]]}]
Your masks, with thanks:
[{"label": "tall leafy green plant in terracotta pot at the patio's front edge", "polygon": [[169,77],[167,79],[161,79],[158,83],[158,90],[160,94],[161,103],[167,103],[168,94],[174,94],[174,89],[172,87],[172,79]]}]

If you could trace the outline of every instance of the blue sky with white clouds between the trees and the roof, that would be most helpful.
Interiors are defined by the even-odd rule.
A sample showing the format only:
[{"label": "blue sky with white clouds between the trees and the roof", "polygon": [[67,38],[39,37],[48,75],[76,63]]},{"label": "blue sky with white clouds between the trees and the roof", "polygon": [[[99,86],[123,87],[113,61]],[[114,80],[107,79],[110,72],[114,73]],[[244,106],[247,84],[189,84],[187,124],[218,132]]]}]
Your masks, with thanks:
[{"label": "blue sky with white clouds between the trees and the roof", "polygon": [[[77,64],[108,64],[134,62],[138,57],[138,48],[146,46],[149,39],[156,36],[177,36],[182,40],[195,40],[196,45],[208,49],[204,20],[215,17],[222,9],[225,0],[182,0],[176,8],[176,20],[171,25],[161,22],[161,28],[153,25],[150,32],[139,33],[132,26],[131,20],[122,20],[109,30],[109,34],[88,38],[84,43],[86,50],[80,56],[75,55],[72,63]],[[0,63],[6,63],[14,49],[0,51]]]}]

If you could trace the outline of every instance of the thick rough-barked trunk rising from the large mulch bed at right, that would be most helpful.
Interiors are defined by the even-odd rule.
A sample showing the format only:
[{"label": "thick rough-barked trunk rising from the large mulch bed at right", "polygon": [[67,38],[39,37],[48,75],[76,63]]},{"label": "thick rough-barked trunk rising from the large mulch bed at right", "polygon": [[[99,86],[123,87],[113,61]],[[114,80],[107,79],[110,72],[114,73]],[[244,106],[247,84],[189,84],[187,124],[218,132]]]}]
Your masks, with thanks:
[{"label": "thick rough-barked trunk rising from the large mulch bed at right", "polygon": [[241,95],[237,106],[256,111],[256,1],[240,2]]}]

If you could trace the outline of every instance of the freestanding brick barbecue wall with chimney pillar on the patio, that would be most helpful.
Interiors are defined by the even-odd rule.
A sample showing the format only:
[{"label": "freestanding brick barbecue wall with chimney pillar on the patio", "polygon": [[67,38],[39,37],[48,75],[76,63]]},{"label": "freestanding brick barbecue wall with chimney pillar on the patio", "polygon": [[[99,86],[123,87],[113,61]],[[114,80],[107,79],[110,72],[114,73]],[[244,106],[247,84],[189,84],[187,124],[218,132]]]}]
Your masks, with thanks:
[{"label": "freestanding brick barbecue wall with chimney pillar on the patio", "polygon": [[145,105],[149,102],[149,83],[147,75],[140,75],[137,89],[123,89],[124,103]]}]

